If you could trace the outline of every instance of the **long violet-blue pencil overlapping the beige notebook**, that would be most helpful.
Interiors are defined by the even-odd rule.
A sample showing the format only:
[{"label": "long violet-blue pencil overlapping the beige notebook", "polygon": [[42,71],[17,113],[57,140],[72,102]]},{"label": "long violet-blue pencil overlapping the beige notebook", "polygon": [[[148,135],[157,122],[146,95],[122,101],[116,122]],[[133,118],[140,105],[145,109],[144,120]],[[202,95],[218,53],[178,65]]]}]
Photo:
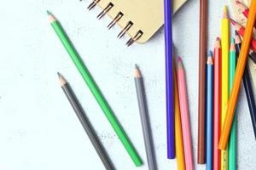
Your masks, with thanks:
[{"label": "long violet-blue pencil overlapping the beige notebook", "polygon": [[165,42],[166,42],[166,132],[167,158],[175,158],[174,144],[174,102],[172,77],[172,0],[164,0]]}]

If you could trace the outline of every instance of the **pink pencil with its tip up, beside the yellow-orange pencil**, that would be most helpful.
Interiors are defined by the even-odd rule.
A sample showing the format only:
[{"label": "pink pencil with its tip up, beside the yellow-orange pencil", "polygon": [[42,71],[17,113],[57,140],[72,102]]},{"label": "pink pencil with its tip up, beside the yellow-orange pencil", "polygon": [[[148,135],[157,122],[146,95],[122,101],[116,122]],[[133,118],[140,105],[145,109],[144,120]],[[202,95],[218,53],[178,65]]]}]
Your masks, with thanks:
[{"label": "pink pencil with its tip up, beside the yellow-orange pencil", "polygon": [[194,161],[192,154],[192,139],[190,133],[190,122],[189,122],[189,103],[186,88],[186,77],[183,68],[182,59],[177,58],[177,91],[180,105],[181,122],[183,129],[183,144],[184,144],[184,156],[186,170],[194,169]]}]

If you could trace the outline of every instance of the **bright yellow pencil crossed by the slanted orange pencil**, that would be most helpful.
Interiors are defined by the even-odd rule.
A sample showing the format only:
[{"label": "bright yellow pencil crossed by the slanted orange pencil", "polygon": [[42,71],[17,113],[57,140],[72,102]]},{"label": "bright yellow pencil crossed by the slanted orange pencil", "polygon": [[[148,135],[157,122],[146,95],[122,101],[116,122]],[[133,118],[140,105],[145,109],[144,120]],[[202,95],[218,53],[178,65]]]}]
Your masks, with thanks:
[{"label": "bright yellow pencil crossed by the slanted orange pencil", "polygon": [[[224,6],[221,28],[222,38],[222,75],[221,75],[221,128],[224,126],[225,113],[229,100],[229,55],[230,55],[230,21],[228,9]],[[227,147],[228,148],[228,147]],[[229,169],[228,150],[221,150],[221,170]]]}]

